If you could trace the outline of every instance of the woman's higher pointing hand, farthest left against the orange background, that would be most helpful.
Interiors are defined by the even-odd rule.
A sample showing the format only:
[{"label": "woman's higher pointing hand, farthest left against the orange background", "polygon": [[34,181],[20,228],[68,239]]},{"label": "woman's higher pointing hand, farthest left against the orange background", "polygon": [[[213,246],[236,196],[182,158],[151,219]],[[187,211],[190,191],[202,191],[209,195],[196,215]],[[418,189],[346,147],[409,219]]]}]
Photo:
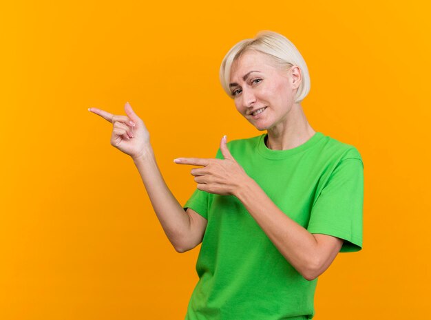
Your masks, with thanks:
[{"label": "woman's higher pointing hand, farthest left against the orange background", "polygon": [[129,103],[125,104],[124,109],[127,116],[110,114],[97,108],[88,110],[112,123],[111,145],[136,159],[151,149],[149,132]]}]

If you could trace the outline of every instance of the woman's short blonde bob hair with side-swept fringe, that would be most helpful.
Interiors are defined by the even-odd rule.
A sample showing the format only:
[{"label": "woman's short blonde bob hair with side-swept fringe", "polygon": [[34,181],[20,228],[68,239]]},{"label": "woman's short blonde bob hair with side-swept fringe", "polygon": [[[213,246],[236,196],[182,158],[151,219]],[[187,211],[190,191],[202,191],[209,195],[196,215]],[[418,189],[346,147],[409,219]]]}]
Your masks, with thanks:
[{"label": "woman's short blonde bob hair with side-swept fringe", "polygon": [[273,61],[280,67],[291,67],[297,65],[301,70],[302,81],[295,95],[295,103],[301,102],[308,92],[310,92],[310,75],[308,68],[295,45],[291,43],[285,36],[273,31],[258,32],[254,39],[244,39],[227,52],[224,56],[222,65],[220,65],[220,82],[224,91],[233,98],[229,88],[229,80],[231,78],[232,63],[240,58],[247,50],[255,50],[263,54],[269,55]]}]

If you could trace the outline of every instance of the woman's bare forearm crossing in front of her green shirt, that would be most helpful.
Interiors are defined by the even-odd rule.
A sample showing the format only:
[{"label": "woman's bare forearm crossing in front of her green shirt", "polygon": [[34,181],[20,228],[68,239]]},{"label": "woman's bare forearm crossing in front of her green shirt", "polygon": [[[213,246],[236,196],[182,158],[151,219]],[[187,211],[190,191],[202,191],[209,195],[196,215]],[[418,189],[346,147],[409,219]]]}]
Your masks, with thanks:
[{"label": "woman's bare forearm crossing in front of her green shirt", "polygon": [[253,179],[242,184],[235,196],[286,260],[304,278],[311,279],[319,268],[315,237],[284,214]]}]

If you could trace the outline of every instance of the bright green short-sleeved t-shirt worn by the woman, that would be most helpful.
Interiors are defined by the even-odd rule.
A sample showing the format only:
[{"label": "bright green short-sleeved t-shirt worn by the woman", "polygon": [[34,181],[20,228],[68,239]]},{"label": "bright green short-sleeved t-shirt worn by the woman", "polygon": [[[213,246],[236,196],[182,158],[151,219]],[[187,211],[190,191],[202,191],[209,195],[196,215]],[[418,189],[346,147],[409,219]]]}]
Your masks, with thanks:
[{"label": "bright green short-sleeved t-shirt worn by the woman", "polygon": [[[362,247],[364,165],[359,151],[320,132],[288,150],[267,134],[227,143],[233,158],[288,217],[310,233]],[[223,159],[220,149],[216,158]],[[199,276],[186,320],[311,319],[317,279],[282,256],[234,195],[196,189],[184,205],[208,220],[196,263]]]}]

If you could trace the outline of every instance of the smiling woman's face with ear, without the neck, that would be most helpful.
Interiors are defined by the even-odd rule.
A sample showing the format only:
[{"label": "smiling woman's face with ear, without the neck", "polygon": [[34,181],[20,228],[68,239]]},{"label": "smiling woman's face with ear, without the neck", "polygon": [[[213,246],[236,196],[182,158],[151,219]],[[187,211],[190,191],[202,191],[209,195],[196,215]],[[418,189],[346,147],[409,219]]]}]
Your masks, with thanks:
[{"label": "smiling woman's face with ear, without the neck", "polygon": [[236,109],[262,131],[287,119],[300,81],[298,67],[281,70],[271,57],[250,50],[233,62],[229,83]]}]

